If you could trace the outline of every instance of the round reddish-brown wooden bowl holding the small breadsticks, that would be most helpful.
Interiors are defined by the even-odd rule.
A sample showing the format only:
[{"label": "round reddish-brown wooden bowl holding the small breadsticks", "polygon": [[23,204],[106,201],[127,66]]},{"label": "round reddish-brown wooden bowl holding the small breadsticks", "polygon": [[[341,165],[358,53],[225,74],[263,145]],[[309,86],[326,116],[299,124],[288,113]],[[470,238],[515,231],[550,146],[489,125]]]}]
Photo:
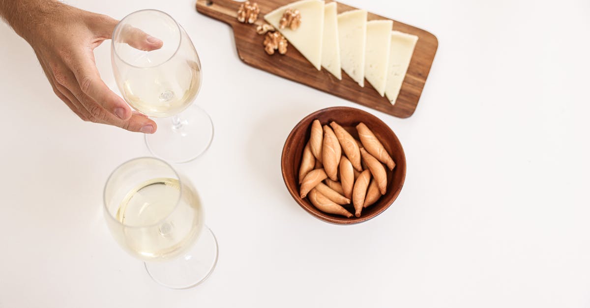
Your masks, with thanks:
[{"label": "round reddish-brown wooden bowl holding the small breadsticks", "polygon": [[[350,135],[356,139],[358,139],[356,125],[360,122],[365,123],[381,141],[383,147],[385,147],[396,163],[394,171],[389,172],[389,169],[386,168],[388,171],[386,194],[382,195],[375,204],[363,208],[360,217],[346,218],[339,215],[324,213],[314,207],[309,199],[302,199],[299,196],[298,179],[301,155],[303,154],[303,148],[309,140],[312,122],[315,119],[318,119],[320,123],[322,123],[322,126],[335,121],[348,130]],[[309,214],[332,224],[358,224],[359,222],[368,221],[381,214],[381,212],[385,211],[385,209],[395,201],[402,186],[404,186],[406,162],[404,149],[402,148],[401,143],[399,143],[398,137],[395,136],[395,133],[389,128],[389,126],[387,126],[387,124],[363,110],[350,107],[330,107],[318,110],[317,112],[306,116],[301,122],[297,123],[293,130],[291,130],[283,147],[281,171],[283,172],[283,180],[287,189],[289,189],[291,196],[293,196],[293,199],[295,199],[303,209],[309,212]],[[352,205],[345,205],[344,207],[348,209],[349,212],[352,212],[352,214],[355,213]]]}]

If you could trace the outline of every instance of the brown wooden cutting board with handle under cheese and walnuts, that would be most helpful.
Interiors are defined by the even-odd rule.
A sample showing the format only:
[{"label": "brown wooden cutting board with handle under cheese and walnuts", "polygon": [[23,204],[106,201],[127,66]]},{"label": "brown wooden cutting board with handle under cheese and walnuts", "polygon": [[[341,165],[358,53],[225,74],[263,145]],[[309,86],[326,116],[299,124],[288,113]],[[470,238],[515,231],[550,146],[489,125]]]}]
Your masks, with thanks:
[{"label": "brown wooden cutting board with handle under cheese and walnuts", "polygon": [[[254,0],[254,2],[260,6],[260,15],[256,24],[262,24],[265,14],[293,1]],[[342,80],[337,80],[324,69],[316,70],[292,45],[289,45],[285,55],[278,53],[268,55],[264,51],[264,35],[256,33],[256,25],[238,22],[237,12],[241,3],[232,0],[197,0],[196,10],[231,25],[238,55],[246,64],[396,117],[409,117],[416,110],[438,47],[437,38],[430,32],[394,20],[393,30],[417,35],[418,42],[398,99],[392,105],[386,97],[379,96],[368,82],[365,82],[365,87],[360,87],[344,72]],[[356,9],[340,3],[337,7],[339,13]],[[368,20],[373,19],[389,18],[369,13]]]}]

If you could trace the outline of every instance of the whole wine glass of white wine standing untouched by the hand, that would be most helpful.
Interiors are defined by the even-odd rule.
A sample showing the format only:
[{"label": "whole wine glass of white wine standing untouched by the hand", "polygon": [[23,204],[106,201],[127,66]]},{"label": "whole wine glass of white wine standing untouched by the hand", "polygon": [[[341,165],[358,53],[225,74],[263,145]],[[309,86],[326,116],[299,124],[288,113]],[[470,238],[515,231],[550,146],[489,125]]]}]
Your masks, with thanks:
[{"label": "whole wine glass of white wine standing untouched by the hand", "polygon": [[158,158],[129,160],[104,186],[104,216],[115,240],[156,282],[172,289],[201,283],[217,263],[218,246],[204,224],[191,182]]}]

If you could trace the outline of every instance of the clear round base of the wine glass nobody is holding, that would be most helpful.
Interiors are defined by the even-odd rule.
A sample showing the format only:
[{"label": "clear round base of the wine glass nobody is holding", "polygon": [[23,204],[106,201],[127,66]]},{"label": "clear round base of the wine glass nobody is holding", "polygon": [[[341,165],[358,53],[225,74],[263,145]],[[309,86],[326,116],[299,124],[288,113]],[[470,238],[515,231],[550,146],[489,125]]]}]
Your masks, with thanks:
[{"label": "clear round base of the wine glass nobody is holding", "polygon": [[217,264],[215,234],[207,226],[191,249],[171,261],[144,263],[154,281],[171,289],[188,289],[209,277]]}]

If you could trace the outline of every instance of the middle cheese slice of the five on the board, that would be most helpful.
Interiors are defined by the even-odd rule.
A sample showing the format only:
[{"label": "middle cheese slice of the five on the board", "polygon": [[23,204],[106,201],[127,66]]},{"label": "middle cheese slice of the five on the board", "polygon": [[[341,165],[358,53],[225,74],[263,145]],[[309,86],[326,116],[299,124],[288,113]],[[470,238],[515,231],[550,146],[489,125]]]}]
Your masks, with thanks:
[{"label": "middle cheese slice of the five on the board", "polygon": [[365,37],[367,11],[355,9],[338,15],[338,38],[342,69],[365,86]]}]

